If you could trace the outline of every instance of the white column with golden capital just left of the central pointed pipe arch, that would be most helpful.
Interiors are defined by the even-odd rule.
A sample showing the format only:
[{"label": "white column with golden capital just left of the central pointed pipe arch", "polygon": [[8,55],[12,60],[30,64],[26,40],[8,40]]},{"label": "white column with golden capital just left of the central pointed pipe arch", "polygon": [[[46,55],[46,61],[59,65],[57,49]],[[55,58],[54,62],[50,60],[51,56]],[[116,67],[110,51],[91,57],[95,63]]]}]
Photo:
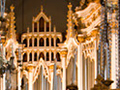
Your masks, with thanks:
[{"label": "white column with golden capital just left of the central pointed pipe arch", "polygon": [[28,90],[33,90],[33,66],[28,66]]}]

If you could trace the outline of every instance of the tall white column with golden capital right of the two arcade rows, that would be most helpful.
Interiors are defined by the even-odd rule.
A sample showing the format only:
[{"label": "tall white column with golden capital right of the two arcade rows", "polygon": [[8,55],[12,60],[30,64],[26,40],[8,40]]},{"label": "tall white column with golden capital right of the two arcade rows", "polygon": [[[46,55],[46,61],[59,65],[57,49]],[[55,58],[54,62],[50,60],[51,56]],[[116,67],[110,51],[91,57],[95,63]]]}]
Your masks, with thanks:
[{"label": "tall white column with golden capital right of the two arcade rows", "polygon": [[67,49],[63,48],[60,51],[62,68],[63,68],[63,78],[62,78],[62,90],[66,90],[66,58],[67,58]]}]

